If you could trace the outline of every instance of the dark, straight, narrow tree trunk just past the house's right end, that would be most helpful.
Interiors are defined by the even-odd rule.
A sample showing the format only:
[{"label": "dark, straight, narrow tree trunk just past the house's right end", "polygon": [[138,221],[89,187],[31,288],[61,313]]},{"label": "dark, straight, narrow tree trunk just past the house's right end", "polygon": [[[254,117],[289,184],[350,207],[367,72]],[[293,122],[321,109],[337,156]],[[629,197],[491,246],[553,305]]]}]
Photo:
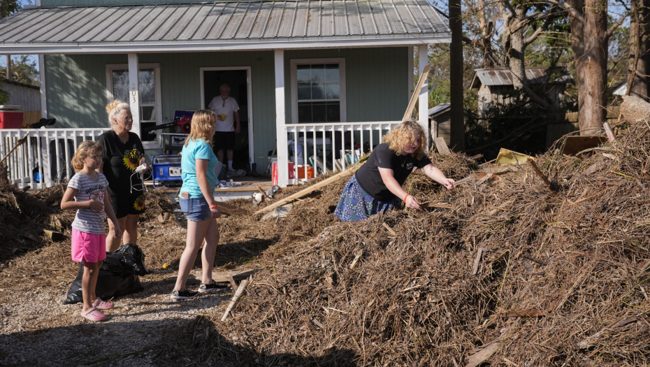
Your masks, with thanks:
[{"label": "dark, straight, narrow tree trunk just past the house's right end", "polygon": [[452,43],[449,45],[449,99],[450,111],[449,145],[456,152],[465,150],[465,113],[463,102],[463,20],[461,0],[449,0],[449,28]]}]

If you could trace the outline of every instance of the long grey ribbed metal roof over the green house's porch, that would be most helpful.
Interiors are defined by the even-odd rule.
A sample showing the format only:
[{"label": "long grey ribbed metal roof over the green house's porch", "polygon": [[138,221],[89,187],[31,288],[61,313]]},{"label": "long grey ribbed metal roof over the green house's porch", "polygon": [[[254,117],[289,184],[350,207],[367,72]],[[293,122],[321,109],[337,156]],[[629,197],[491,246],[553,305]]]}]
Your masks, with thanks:
[{"label": "long grey ribbed metal roof over the green house's porch", "polygon": [[450,37],[426,0],[39,7],[0,20],[0,53],[341,48]]}]

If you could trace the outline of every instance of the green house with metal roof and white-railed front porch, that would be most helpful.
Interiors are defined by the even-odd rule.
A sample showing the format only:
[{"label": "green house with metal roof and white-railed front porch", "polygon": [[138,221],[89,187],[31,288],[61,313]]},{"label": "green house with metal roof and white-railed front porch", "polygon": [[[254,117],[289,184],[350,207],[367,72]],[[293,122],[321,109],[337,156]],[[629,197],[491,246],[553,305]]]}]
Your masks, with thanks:
[{"label": "green house with metal roof and white-railed front porch", "polygon": [[339,169],[377,145],[410,100],[414,47],[422,70],[427,45],[451,38],[425,0],[37,0],[0,35],[0,54],[40,55],[43,117],[103,131],[108,101],[126,99],[149,156],[172,135],[142,129],[206,108],[228,84],[236,164],[264,171],[275,148],[283,186],[299,167]]}]

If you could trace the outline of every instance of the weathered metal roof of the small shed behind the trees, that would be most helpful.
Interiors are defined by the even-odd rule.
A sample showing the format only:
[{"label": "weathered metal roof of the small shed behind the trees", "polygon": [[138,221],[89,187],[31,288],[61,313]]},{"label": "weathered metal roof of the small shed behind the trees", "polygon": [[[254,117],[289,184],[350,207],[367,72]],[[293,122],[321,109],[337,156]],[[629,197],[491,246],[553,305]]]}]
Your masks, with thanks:
[{"label": "weathered metal roof of the small shed behind the trees", "polygon": [[[546,71],[549,69],[547,66],[526,67],[526,78],[530,84],[544,84],[549,82]],[[568,73],[564,66],[555,68],[560,71],[562,75],[556,80],[551,82],[573,82],[573,78]],[[494,69],[475,69],[474,80],[472,80],[472,88],[478,88],[480,85],[512,85],[512,71],[510,68],[494,68]]]}]

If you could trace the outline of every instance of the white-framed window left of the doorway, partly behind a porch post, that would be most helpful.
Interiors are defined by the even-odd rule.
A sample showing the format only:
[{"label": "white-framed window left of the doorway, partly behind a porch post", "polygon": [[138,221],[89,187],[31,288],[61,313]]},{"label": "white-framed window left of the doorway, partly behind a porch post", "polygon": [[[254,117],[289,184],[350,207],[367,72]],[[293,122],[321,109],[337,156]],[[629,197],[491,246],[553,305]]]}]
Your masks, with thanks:
[{"label": "white-framed window left of the doorway, partly behind a porch post", "polygon": [[[124,68],[124,69],[122,69]],[[140,128],[152,127],[161,124],[159,116],[159,72],[157,67],[144,67],[140,64],[139,92],[140,92]],[[129,70],[126,65],[113,65],[107,70],[108,99],[129,101]],[[160,145],[161,135],[159,130],[152,130],[142,134],[140,139],[145,145]],[[148,144],[147,144],[148,143]]]}]

